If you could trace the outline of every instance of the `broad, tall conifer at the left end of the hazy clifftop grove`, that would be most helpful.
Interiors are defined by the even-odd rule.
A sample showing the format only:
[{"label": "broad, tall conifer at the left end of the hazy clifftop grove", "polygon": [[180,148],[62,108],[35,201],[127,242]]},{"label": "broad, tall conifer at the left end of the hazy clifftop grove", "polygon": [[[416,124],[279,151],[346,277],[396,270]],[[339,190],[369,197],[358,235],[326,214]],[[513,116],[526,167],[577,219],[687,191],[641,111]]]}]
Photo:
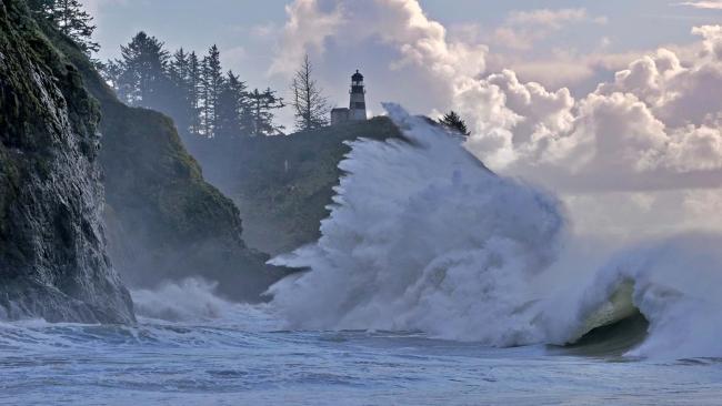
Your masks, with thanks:
[{"label": "broad, tall conifer at the left end of the hazy clifftop grove", "polygon": [[130,43],[120,47],[120,51],[119,95],[131,105],[163,110],[170,89],[167,77],[169,55],[163,43],[141,31]]}]

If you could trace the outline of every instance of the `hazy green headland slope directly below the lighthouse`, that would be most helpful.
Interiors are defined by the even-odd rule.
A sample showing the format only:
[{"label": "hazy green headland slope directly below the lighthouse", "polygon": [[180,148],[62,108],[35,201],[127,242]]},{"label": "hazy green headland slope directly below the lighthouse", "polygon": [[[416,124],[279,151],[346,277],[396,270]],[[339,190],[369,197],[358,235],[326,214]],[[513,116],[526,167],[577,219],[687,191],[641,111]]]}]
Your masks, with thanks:
[{"label": "hazy green headland slope directly below the lighthouse", "polygon": [[239,205],[247,243],[280,253],[320,236],[341,176],[339,162],[350,151],[345,141],[400,136],[391,120],[380,116],[235,144],[203,141],[192,150],[208,179]]}]

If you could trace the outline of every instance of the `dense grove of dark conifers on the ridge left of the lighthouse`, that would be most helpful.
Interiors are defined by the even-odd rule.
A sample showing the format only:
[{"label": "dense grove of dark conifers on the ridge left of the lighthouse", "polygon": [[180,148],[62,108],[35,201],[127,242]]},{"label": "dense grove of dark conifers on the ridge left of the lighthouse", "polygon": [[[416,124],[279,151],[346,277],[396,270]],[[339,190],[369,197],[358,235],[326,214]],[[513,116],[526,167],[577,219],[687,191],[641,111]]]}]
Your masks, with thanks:
[{"label": "dense grove of dark conifers on the ridge left of the lighthouse", "polygon": [[126,103],[162,111],[187,134],[209,139],[274,135],[283,130],[274,90],[249,90],[233,71],[223,72],[218,47],[199,57],[183,48],[172,55],[141,31],[121,45],[121,58],[104,63],[104,79]]}]

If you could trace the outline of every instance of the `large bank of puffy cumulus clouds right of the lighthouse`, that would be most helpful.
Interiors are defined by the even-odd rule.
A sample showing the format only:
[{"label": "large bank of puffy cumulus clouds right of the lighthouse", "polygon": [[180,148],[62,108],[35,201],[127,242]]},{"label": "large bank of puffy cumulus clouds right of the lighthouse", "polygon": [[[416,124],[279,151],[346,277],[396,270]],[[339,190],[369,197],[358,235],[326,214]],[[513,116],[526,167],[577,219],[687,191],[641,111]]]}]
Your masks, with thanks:
[{"label": "large bank of puffy cumulus clouds right of the lighthouse", "polygon": [[[693,33],[702,37],[703,52],[688,65],[660,49],[580,100],[570,101],[564,89],[550,92],[533,82],[520,83],[512,71],[478,81],[475,97],[454,99],[454,108],[473,123],[469,148],[492,166],[552,179],[561,187],[718,185],[722,29],[706,26]],[[488,93],[495,97],[482,95]],[[518,102],[520,94],[524,104]]]}]

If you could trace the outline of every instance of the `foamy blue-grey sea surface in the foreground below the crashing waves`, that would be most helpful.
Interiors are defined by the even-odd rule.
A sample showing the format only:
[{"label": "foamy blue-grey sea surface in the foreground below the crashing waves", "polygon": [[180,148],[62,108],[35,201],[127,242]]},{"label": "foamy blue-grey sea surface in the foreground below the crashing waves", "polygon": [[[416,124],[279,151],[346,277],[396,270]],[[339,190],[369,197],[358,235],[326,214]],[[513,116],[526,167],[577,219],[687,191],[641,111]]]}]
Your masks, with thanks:
[{"label": "foamy blue-grey sea surface in the foreground below the crashing waves", "polygon": [[190,321],[0,326],[8,405],[716,405],[722,362],[494,348],[414,332],[284,331],[267,306]]}]

